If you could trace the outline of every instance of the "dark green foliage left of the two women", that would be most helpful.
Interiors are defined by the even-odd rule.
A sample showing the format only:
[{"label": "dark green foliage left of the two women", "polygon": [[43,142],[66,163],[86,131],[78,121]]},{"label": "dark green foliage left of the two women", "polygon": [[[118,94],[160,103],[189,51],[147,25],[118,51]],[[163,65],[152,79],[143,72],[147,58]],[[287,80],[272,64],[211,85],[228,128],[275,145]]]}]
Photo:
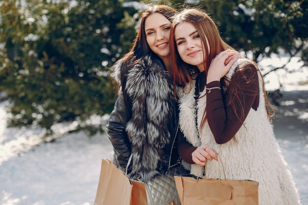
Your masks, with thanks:
[{"label": "dark green foliage left of the two women", "polygon": [[110,112],[107,68],[131,46],[135,22],[125,22],[134,13],[118,0],[2,1],[0,91],[12,103],[11,125],[50,129]]}]

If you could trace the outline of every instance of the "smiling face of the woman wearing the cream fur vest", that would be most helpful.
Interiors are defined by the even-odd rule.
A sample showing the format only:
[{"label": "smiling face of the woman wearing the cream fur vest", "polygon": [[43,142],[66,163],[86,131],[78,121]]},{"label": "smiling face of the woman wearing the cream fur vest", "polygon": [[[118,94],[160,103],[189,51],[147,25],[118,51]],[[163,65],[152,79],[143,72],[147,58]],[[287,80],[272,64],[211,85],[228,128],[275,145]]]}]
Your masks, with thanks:
[{"label": "smiling face of the woman wearing the cream fur vest", "polygon": [[187,22],[179,24],[175,28],[175,40],[181,59],[203,71],[206,49],[195,26]]}]

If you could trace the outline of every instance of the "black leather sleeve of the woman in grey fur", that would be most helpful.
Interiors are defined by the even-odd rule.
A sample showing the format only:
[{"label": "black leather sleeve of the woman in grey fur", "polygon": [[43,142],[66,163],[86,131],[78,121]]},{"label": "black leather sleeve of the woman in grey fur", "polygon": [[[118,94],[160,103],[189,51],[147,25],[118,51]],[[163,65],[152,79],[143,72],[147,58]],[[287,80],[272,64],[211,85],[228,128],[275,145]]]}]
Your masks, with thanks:
[{"label": "black leather sleeve of the woman in grey fur", "polygon": [[123,170],[126,168],[131,153],[130,142],[125,131],[128,120],[123,95],[119,94],[114,110],[110,114],[106,131],[114,148],[115,158]]}]

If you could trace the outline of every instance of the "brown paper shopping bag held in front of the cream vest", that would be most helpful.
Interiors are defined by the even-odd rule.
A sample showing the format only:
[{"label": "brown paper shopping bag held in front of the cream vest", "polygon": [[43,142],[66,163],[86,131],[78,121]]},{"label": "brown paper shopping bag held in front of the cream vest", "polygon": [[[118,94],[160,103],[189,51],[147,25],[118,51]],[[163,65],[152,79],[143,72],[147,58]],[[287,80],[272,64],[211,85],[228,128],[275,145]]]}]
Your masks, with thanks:
[{"label": "brown paper shopping bag held in front of the cream vest", "polygon": [[192,175],[174,178],[182,205],[258,205],[256,181],[208,179]]}]

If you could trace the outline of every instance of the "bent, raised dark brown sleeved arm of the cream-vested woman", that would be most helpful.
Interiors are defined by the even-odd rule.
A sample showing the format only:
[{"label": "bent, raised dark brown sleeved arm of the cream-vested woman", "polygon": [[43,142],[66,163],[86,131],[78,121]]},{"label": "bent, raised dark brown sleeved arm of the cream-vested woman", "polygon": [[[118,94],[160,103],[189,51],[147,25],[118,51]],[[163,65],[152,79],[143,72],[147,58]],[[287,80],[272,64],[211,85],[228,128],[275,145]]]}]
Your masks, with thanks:
[{"label": "bent, raised dark brown sleeved arm of the cream-vested woman", "polygon": [[[259,83],[257,69],[253,64],[246,64],[244,70],[236,70],[229,87],[222,99],[220,89],[211,89],[207,92],[207,120],[210,129],[215,137],[217,144],[224,144],[230,141],[243,125],[251,108],[255,110],[258,107]],[[249,66],[249,68],[248,68]],[[213,81],[207,84],[207,88],[220,87],[219,81]],[[239,97],[235,98],[232,90],[238,89]],[[228,102],[233,98],[235,111]],[[255,103],[257,101],[257,104]],[[241,105],[243,106],[243,115],[241,116]],[[236,117],[236,113],[241,116],[242,120]]]}]

